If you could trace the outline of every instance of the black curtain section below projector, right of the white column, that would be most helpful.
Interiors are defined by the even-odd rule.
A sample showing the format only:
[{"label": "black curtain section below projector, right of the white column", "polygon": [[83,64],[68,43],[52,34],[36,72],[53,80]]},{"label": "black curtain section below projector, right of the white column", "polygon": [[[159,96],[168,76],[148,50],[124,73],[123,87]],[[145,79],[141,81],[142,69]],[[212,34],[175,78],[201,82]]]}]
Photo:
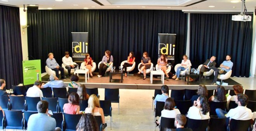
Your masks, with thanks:
[{"label": "black curtain section below projector, right of the white column", "polygon": [[[251,22],[232,21],[231,13],[191,13],[190,14],[190,60],[198,67],[216,56],[217,66],[231,55],[232,76],[250,75],[253,37]],[[251,16],[253,16],[251,14]]]}]

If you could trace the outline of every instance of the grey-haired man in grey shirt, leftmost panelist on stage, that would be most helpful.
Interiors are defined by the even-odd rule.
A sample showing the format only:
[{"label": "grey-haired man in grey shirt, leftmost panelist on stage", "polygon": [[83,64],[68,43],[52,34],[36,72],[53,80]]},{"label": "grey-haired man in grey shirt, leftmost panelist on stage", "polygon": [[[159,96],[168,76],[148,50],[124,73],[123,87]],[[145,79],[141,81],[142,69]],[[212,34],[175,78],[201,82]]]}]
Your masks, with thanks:
[{"label": "grey-haired man in grey shirt, leftmost panelist on stage", "polygon": [[59,66],[59,64],[54,59],[53,53],[48,54],[48,59],[46,60],[46,66],[55,71],[56,76],[59,78],[59,71],[61,71],[61,79],[65,79],[64,69]]}]

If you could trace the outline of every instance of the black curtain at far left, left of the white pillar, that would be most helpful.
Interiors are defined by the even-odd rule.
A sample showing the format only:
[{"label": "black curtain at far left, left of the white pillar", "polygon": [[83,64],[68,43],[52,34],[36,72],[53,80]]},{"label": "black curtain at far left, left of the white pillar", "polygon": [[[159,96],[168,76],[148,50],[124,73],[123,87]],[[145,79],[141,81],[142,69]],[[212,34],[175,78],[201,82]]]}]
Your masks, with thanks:
[{"label": "black curtain at far left, left of the white pillar", "polygon": [[0,5],[0,79],[7,89],[23,83],[19,8]]}]

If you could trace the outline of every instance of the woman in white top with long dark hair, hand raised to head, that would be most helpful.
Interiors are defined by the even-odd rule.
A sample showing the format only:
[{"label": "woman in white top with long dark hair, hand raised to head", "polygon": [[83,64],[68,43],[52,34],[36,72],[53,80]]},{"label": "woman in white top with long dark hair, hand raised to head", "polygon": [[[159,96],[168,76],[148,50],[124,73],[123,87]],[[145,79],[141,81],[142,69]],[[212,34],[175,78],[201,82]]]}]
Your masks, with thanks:
[{"label": "woman in white top with long dark hair, hand raised to head", "polygon": [[210,107],[205,96],[199,96],[189,108],[187,117],[190,119],[210,119]]}]

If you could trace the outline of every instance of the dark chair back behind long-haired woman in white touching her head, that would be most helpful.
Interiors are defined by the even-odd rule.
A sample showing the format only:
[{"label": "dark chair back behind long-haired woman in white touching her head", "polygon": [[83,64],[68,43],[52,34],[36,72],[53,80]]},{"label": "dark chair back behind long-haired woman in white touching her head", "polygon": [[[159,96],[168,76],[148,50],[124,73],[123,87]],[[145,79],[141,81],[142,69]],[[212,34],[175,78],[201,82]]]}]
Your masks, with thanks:
[{"label": "dark chair back behind long-haired woman in white touching her head", "polygon": [[187,128],[193,131],[207,131],[209,119],[197,120],[187,118]]}]

